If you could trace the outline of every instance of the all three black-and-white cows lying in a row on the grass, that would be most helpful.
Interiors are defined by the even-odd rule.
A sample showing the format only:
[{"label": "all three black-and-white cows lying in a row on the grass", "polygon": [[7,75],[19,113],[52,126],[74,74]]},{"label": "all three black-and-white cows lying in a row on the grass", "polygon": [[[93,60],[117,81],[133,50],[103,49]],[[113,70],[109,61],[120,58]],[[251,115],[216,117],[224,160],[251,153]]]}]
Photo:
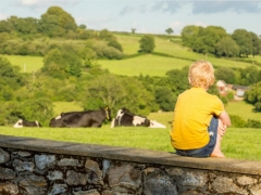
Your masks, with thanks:
[{"label": "all three black-and-white cows lying in a row on the grass", "polygon": [[[149,120],[145,116],[132,114],[127,108],[121,108],[117,110],[116,117],[112,119],[111,109],[105,106],[99,110],[83,110],[83,112],[70,112],[61,113],[55,118],[52,118],[49,122],[49,127],[53,128],[100,128],[104,120],[111,121],[111,128],[121,126],[144,126],[149,128],[166,128],[164,125]],[[41,127],[40,122],[26,121],[20,119],[14,128],[23,127]]]}]

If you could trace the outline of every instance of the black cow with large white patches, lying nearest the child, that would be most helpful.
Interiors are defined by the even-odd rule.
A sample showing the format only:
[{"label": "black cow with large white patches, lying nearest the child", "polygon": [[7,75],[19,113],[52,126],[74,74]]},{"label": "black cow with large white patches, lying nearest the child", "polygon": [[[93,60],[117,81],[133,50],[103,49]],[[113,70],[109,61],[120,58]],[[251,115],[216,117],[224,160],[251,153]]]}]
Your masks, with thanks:
[{"label": "black cow with large white patches, lying nearest the child", "polygon": [[134,115],[128,109],[122,108],[117,110],[116,117],[111,122],[111,128],[120,126],[144,126],[149,128],[166,128],[164,125],[149,120],[147,117]]}]

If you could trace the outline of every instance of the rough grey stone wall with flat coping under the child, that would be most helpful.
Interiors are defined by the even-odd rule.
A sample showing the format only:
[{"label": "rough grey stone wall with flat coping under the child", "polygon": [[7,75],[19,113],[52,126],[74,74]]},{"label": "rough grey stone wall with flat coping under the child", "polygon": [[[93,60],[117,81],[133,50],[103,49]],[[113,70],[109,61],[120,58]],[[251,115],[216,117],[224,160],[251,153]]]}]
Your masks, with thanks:
[{"label": "rough grey stone wall with flat coping under the child", "polygon": [[0,135],[2,195],[260,195],[260,161]]}]

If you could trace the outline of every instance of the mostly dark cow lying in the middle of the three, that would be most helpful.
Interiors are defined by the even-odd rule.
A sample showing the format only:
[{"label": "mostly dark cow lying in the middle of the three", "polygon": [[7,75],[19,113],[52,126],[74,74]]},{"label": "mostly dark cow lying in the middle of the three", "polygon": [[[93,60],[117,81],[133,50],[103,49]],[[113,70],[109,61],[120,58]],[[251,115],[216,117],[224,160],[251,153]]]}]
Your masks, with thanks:
[{"label": "mostly dark cow lying in the middle of the three", "polygon": [[60,116],[50,120],[49,127],[100,128],[105,119],[111,120],[111,109],[108,106],[99,110],[62,113]]}]

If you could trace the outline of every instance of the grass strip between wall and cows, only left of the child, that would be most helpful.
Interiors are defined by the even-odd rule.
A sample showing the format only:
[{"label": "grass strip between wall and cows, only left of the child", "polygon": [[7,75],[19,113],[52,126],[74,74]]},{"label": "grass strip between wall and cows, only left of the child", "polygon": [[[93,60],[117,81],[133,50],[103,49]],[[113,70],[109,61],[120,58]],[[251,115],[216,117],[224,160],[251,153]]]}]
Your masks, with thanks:
[{"label": "grass strip between wall and cows, only left of the child", "polygon": [[173,151],[170,144],[170,129],[150,128],[8,128],[0,127],[0,133],[57,141],[139,147],[156,151]]}]

